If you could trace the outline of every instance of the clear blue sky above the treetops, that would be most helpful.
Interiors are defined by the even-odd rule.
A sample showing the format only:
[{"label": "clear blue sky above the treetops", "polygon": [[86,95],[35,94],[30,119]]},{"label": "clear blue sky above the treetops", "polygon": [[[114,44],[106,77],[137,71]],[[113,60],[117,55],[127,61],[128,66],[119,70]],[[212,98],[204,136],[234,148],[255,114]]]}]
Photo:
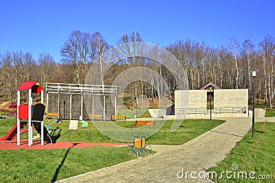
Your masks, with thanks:
[{"label": "clear blue sky above the treetops", "polygon": [[212,47],[250,39],[258,45],[275,35],[275,1],[0,1],[0,54],[5,51],[50,53],[75,29],[100,32],[115,45],[125,33],[140,32],[146,42],[169,45],[196,40]]}]

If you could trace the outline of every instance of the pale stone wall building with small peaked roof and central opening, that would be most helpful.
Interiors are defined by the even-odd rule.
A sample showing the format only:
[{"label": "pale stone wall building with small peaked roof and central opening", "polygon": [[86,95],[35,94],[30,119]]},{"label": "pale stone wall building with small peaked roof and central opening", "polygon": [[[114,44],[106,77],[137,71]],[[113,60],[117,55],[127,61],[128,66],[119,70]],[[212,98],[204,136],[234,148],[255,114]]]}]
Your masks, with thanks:
[{"label": "pale stone wall building with small peaked roof and central opening", "polygon": [[207,82],[197,90],[175,91],[175,115],[185,118],[248,117],[248,88],[222,89]]}]

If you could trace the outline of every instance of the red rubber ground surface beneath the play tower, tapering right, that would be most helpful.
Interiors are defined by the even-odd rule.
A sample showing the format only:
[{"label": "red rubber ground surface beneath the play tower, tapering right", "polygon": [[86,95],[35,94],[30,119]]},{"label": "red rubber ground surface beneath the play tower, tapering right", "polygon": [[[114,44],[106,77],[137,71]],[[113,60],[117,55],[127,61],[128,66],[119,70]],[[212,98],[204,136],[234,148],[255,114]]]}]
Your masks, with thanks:
[{"label": "red rubber ground surface beneath the play tower, tapering right", "polygon": [[80,143],[80,142],[66,142],[56,141],[52,145],[50,143],[44,143],[41,145],[41,141],[32,141],[32,146],[28,145],[28,139],[21,139],[20,145],[17,145],[17,140],[11,142],[5,141],[0,143],[0,149],[62,149],[62,148],[78,148],[78,147],[92,147],[96,145],[103,145],[109,147],[124,146],[127,143]]}]

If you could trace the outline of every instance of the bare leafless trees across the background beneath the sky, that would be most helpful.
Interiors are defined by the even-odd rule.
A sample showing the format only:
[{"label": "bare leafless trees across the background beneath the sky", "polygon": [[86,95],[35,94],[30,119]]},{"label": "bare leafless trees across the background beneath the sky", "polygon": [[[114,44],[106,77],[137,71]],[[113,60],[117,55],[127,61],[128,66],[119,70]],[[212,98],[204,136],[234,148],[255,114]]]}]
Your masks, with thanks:
[{"label": "bare leafless trees across the background beneath the sky", "polygon": [[[116,45],[128,42],[144,40],[138,32],[132,32],[122,35]],[[0,95],[8,100],[15,99],[14,91],[22,82],[29,80],[39,80],[43,87],[45,82],[84,84],[94,61],[100,60],[104,64],[102,56],[113,46],[115,45],[110,45],[99,32],[91,34],[74,30],[61,45],[60,62],[56,62],[49,53],[41,53],[34,59],[30,52],[5,51],[0,55]],[[186,71],[190,89],[197,89],[201,84],[211,81],[221,88],[248,88],[251,97],[255,79],[256,97],[262,97],[272,107],[275,95],[274,36],[265,36],[257,45],[249,39],[240,43],[232,38],[226,47],[221,45],[214,48],[206,45],[206,42],[190,39],[175,40],[162,47],[170,51]],[[124,51],[127,53],[126,47]],[[169,88],[172,88],[170,93],[173,94],[173,90],[177,89],[173,76],[162,64],[131,55],[115,63],[102,76],[101,84],[111,83],[122,71],[135,66],[146,66],[159,73]],[[252,69],[256,69],[256,78],[252,78]],[[136,81],[129,84],[124,92],[131,93],[135,99],[144,94],[154,98],[161,91],[153,89],[151,83]]]}]

